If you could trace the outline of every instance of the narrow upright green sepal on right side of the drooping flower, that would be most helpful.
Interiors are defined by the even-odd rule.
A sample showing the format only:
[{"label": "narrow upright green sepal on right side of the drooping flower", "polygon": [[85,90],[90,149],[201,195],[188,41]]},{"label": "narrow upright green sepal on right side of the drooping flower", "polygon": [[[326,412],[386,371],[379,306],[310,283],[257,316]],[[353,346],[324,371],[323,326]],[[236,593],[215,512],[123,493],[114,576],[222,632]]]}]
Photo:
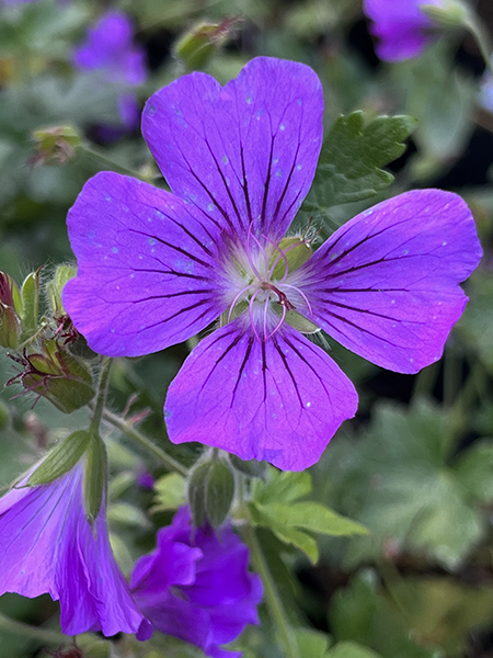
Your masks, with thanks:
[{"label": "narrow upright green sepal on right side of the drooping flower", "polygon": [[88,521],[93,524],[103,504],[107,484],[106,446],[95,432],[91,432],[84,466],[84,510]]}]

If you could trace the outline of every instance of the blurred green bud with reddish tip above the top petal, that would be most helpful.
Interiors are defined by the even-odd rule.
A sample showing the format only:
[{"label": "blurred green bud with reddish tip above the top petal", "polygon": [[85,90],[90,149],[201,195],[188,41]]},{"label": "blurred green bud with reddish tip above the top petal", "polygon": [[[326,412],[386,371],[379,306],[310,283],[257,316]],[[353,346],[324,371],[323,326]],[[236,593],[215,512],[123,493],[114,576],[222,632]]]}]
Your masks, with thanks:
[{"label": "blurred green bud with reddish tip above the top petal", "polygon": [[204,68],[213,55],[230,38],[238,18],[221,23],[202,21],[174,44],[173,54],[190,71]]}]

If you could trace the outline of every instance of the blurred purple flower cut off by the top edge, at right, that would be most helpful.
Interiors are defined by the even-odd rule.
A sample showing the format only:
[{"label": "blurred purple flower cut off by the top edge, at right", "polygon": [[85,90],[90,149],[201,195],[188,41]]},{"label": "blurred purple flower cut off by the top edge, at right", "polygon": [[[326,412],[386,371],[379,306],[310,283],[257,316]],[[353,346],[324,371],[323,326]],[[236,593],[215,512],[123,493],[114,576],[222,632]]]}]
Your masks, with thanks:
[{"label": "blurred purple flower cut off by the top edge, at right", "polygon": [[422,4],[442,0],[365,0],[364,12],[371,19],[371,33],[379,37],[377,54],[387,61],[416,57],[436,38],[435,23],[421,10]]}]

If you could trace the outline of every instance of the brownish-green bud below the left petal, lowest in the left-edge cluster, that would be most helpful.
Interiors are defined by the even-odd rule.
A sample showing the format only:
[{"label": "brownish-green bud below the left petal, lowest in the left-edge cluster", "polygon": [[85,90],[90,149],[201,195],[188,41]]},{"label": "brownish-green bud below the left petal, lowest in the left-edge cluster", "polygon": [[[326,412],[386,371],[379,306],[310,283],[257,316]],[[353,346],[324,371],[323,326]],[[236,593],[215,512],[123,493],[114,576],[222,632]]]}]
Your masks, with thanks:
[{"label": "brownish-green bud below the left petal, lowest in the left-edge cluster", "polygon": [[45,341],[42,353],[11,356],[23,371],[7,385],[20,381],[26,390],[48,399],[57,409],[71,413],[94,397],[91,373],[87,366],[55,340]]}]

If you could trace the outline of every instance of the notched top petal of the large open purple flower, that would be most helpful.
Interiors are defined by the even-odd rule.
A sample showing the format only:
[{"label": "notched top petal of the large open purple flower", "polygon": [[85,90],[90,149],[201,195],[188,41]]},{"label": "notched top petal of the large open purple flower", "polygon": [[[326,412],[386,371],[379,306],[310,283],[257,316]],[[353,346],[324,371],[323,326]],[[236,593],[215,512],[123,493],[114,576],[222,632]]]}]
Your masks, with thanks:
[{"label": "notched top petal of the large open purple flower", "polygon": [[257,57],[221,88],[205,73],[152,95],[142,133],[173,192],[244,236],[278,238],[313,179],[322,88],[302,64]]}]

